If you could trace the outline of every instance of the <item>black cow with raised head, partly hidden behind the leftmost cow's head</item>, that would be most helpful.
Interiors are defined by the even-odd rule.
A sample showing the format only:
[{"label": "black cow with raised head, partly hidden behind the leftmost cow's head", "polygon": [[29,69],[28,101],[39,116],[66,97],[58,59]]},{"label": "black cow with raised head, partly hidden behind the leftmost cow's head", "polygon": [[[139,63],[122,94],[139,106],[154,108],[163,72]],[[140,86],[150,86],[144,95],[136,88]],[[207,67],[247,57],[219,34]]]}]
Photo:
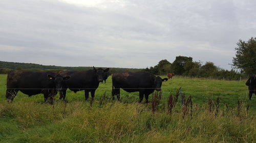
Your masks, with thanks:
[{"label": "black cow with raised head, partly hidden behind the leftmost cow's head", "polygon": [[63,71],[60,74],[62,76],[70,76],[70,79],[66,81],[66,88],[63,88],[60,92],[59,99],[66,100],[66,91],[69,88],[73,92],[84,90],[84,96],[86,100],[89,98],[89,92],[91,92],[92,100],[95,96],[95,91],[99,86],[99,82],[103,81],[103,74],[108,72],[109,68],[103,70],[102,68],[87,71]]}]

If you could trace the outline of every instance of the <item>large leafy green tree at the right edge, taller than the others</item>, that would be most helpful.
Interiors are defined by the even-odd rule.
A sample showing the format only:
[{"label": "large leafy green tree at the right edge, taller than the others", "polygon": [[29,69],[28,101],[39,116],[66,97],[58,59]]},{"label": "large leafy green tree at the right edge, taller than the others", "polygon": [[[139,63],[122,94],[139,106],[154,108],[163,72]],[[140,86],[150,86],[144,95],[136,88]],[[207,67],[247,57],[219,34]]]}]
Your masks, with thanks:
[{"label": "large leafy green tree at the right edge, taller than the others", "polygon": [[250,38],[247,42],[239,40],[236,57],[233,57],[233,64],[237,69],[246,74],[256,72],[256,38]]}]

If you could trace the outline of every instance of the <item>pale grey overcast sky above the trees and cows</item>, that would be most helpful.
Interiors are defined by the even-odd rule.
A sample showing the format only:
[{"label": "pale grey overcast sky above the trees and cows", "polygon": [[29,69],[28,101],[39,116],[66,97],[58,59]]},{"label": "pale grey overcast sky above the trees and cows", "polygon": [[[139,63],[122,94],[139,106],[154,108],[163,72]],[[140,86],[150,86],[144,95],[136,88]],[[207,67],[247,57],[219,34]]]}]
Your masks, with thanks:
[{"label": "pale grey overcast sky above the trees and cows", "polygon": [[146,68],[176,56],[230,69],[256,1],[1,0],[0,61]]}]

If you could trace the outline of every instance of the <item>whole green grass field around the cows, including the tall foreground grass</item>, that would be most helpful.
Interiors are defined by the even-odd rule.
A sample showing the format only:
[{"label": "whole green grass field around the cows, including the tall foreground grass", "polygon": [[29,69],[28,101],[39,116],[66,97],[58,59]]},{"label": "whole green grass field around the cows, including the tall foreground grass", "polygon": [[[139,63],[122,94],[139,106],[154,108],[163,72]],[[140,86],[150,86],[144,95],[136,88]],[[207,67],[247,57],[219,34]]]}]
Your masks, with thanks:
[{"label": "whole green grass field around the cows, including the tall foreground grass", "polygon": [[[95,101],[84,92],[68,91],[68,103],[43,103],[42,95],[18,93],[5,101],[6,75],[0,75],[0,142],[255,142],[256,96],[248,100],[245,81],[178,78],[163,82],[159,110],[139,104],[138,93],[121,90],[121,102],[112,102],[111,77],[100,83]],[[182,88],[193,101],[192,117],[182,118],[180,101],[167,115],[167,98]],[[100,99],[106,92],[106,99]],[[219,112],[207,110],[207,99],[220,97]],[[149,101],[152,100],[150,95]],[[179,98],[180,100],[180,98]],[[238,115],[238,100],[242,101]],[[144,100],[143,100],[144,102]],[[225,106],[224,106],[225,104]],[[249,110],[246,107],[249,105]]]}]

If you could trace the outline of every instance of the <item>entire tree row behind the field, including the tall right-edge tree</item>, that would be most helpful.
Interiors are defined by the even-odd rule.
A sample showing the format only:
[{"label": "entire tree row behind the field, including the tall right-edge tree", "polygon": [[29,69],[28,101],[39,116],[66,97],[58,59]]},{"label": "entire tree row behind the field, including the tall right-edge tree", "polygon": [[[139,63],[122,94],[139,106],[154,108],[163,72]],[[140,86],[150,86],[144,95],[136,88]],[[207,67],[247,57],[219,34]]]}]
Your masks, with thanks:
[{"label": "entire tree row behind the field, including the tall right-edge tree", "polygon": [[156,66],[143,69],[152,74],[175,73],[176,75],[190,77],[212,77],[239,79],[246,78],[248,75],[256,73],[256,38],[250,38],[248,41],[239,40],[237,43],[236,56],[233,57],[232,69],[225,70],[217,67],[212,62],[195,62],[193,58],[187,56],[176,56],[173,63],[167,60],[161,60]]}]

